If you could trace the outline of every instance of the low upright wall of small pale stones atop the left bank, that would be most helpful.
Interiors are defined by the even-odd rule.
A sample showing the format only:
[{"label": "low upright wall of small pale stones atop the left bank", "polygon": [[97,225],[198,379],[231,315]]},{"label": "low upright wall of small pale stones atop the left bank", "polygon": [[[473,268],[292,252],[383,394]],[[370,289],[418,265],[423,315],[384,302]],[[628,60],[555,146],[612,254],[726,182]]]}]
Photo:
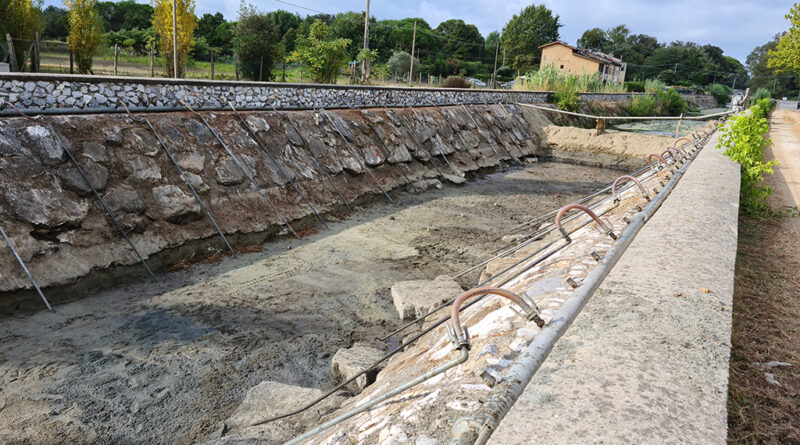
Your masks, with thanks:
[{"label": "low upright wall of small pale stones atop the left bank", "polygon": [[[181,107],[241,109],[427,106],[431,103],[547,102],[551,92],[448,88],[232,82],[164,78],[0,74],[0,103],[29,110],[122,110]],[[583,94],[585,100],[619,102],[627,93]]]}]

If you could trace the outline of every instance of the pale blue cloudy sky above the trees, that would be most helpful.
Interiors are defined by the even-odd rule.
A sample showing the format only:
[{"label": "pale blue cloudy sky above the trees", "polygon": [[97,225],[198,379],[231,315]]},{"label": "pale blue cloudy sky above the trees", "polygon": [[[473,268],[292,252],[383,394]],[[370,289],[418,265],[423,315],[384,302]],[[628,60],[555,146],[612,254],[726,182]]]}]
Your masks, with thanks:
[{"label": "pale blue cloudy sky above the trees", "polygon": [[[141,1],[141,0],[139,0]],[[336,14],[363,11],[366,0],[288,0],[290,3]],[[196,0],[196,13],[222,12],[228,20],[236,19],[236,0]],[[46,4],[60,5],[58,0]],[[276,0],[250,0],[263,11],[285,9],[301,16],[306,9]],[[422,17],[431,27],[451,18],[475,24],[484,37],[499,31],[522,8],[526,0],[372,0],[370,15],[381,19]],[[536,2],[539,3],[539,2]],[[561,39],[574,44],[583,31],[627,25],[632,33],[649,34],[660,42],[673,40],[710,43],[736,57],[742,63],[754,47],[766,43],[776,33],[789,28],[784,15],[792,1],[779,0],[544,0],[550,10],[561,17]]]}]

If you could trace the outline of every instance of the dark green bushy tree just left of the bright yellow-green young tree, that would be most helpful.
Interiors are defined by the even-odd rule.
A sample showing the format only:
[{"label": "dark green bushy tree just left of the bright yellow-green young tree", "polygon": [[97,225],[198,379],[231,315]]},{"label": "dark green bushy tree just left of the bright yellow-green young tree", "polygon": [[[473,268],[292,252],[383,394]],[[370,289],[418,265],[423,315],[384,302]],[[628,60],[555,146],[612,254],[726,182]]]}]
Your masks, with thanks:
[{"label": "dark green bushy tree just left of the bright yellow-green young tree", "polygon": [[275,21],[242,2],[234,27],[233,46],[239,69],[249,80],[272,80],[272,67],[281,55],[279,29]]}]

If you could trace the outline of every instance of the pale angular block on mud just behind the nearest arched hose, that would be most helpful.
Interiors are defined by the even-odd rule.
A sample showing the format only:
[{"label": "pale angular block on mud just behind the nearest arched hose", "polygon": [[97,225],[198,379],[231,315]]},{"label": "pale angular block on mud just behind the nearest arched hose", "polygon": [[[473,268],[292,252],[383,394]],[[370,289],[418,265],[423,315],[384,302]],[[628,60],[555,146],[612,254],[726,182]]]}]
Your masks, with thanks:
[{"label": "pale angular block on mud just behind the nearest arched hose", "polygon": [[440,275],[435,280],[401,281],[392,286],[392,300],[403,320],[427,314],[463,292],[452,278]]}]

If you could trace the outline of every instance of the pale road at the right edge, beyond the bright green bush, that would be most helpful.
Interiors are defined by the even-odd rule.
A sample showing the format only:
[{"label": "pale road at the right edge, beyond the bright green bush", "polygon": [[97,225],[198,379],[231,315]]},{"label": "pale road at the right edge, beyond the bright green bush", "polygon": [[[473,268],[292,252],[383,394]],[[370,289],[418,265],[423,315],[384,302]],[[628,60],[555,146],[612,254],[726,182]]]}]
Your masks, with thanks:
[{"label": "pale road at the right edge, beyond the bright green bush", "polygon": [[[781,101],[770,118],[770,137],[773,146],[766,152],[767,159],[777,159],[778,166],[767,178],[773,188],[770,205],[773,209],[800,206],[800,110],[795,101]],[[800,218],[792,218],[795,231],[800,235]]]}]

